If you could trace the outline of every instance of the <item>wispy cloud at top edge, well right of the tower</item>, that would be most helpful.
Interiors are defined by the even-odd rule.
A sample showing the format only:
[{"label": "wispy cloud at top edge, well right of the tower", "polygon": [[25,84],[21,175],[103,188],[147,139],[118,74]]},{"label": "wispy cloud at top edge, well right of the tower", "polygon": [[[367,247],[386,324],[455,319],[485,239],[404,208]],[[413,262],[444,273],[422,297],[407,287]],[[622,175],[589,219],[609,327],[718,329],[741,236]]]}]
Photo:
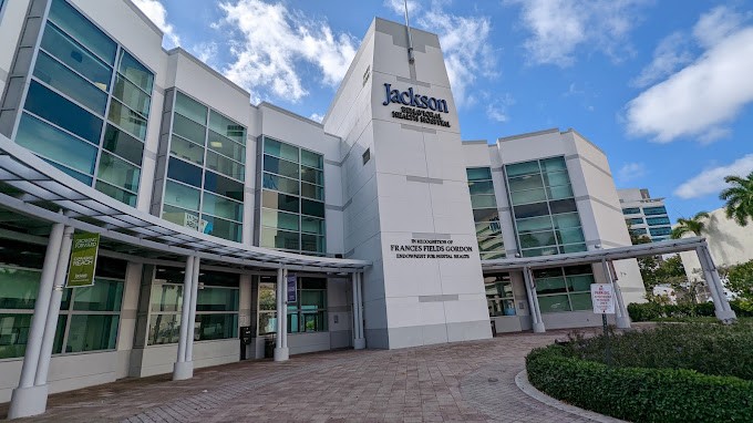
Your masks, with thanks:
[{"label": "wispy cloud at top edge, well right of the tower", "polygon": [[507,0],[522,7],[532,32],[524,43],[534,64],[568,66],[580,47],[601,51],[613,61],[631,54],[627,35],[643,0]]}]

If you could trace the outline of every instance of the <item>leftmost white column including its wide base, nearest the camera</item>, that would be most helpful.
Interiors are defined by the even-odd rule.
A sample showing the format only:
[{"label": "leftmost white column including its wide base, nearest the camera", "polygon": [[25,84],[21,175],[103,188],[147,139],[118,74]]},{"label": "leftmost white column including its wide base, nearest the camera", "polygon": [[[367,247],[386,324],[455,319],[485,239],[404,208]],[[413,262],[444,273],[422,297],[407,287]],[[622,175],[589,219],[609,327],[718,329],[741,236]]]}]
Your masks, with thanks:
[{"label": "leftmost white column including its wide base, nearest the camera", "polygon": [[60,259],[63,229],[63,224],[54,224],[50,231],[39,290],[37,292],[37,301],[34,301],[34,314],[31,319],[31,328],[29,329],[27,340],[27,351],[23,355],[21,378],[19,379],[19,386],[13,390],[11,395],[8,419],[41,414],[47,409],[48,388],[47,385],[34,386],[34,378],[37,376],[37,367],[42,348],[42,337],[47,323],[45,318],[50,309],[55,270]]}]

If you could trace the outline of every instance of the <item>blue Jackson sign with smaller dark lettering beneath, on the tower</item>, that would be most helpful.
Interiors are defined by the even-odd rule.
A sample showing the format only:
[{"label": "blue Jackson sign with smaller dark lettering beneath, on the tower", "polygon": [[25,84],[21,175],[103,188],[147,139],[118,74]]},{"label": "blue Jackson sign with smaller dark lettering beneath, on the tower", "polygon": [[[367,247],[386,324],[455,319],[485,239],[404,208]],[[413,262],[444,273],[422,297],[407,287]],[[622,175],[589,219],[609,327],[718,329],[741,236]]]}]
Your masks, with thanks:
[{"label": "blue Jackson sign with smaller dark lettering beneath, on the tower", "polygon": [[392,111],[392,117],[450,127],[450,122],[443,120],[441,114],[450,113],[446,100],[416,94],[413,87],[401,92],[393,90],[392,84],[385,83],[382,105],[391,103],[403,105],[400,111]]}]

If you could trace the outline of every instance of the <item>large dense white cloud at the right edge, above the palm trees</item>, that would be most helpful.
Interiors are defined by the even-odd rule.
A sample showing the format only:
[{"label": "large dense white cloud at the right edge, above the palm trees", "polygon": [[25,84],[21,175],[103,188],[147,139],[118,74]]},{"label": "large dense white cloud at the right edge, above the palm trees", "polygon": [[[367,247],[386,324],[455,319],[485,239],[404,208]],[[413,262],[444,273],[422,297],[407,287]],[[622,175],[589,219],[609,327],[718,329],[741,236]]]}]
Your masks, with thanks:
[{"label": "large dense white cloud at the right edge, above the palm trees", "polygon": [[628,132],[669,143],[680,136],[714,140],[753,102],[753,27],[712,47],[680,72],[630,101]]}]

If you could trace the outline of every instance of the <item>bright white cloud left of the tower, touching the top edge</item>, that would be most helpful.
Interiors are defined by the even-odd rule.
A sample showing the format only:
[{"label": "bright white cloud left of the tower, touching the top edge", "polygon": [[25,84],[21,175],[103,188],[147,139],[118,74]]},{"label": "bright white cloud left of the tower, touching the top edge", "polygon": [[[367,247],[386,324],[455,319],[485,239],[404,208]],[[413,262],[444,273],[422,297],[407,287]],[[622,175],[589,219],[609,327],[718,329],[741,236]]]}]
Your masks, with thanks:
[{"label": "bright white cloud left of the tower, touching the top edge", "polygon": [[324,21],[307,19],[282,3],[237,0],[220,3],[225,17],[215,24],[229,29],[234,61],[224,70],[227,78],[259,102],[267,92],[291,102],[308,94],[299,64],[321,71],[321,82],[338,84],[355,55],[357,41],[337,34]]}]

